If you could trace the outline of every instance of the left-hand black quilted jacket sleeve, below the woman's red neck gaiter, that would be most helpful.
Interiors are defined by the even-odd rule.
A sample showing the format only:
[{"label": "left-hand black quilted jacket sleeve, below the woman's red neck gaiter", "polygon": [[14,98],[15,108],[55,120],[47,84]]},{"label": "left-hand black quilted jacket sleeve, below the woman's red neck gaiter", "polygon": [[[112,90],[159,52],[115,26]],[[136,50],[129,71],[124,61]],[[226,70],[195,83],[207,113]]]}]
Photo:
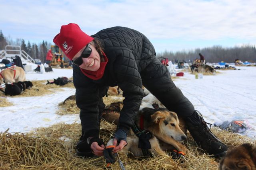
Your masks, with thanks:
[{"label": "left-hand black quilted jacket sleeve, below the woman's red neck gaiter", "polygon": [[73,82],[76,88],[76,105],[80,109],[80,119],[84,129],[84,136],[99,137],[98,86],[90,78],[86,77],[78,66],[74,66],[73,68]]}]

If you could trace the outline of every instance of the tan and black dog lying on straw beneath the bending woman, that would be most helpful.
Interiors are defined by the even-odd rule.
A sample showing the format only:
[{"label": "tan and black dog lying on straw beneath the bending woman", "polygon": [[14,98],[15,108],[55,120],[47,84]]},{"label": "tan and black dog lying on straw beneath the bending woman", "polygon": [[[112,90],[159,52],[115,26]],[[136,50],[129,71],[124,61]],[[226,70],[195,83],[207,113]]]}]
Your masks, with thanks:
[{"label": "tan and black dog lying on straw beneath the bending woman", "polygon": [[[114,105],[118,108],[120,102],[114,103]],[[120,117],[120,109],[116,109],[116,111],[112,112],[109,110],[106,111],[105,109],[102,117],[108,122],[114,122],[114,124],[117,125]],[[186,139],[186,135],[180,129],[180,122],[176,113],[168,111],[166,108],[152,109],[145,107],[136,115],[135,123],[137,126],[140,126],[142,115],[144,117],[143,129],[153,135],[152,138],[149,139],[151,145],[149,152],[166,154],[166,152],[164,152],[166,149],[170,151],[177,149],[179,152],[186,153],[186,147],[178,142]],[[112,145],[112,143],[113,139],[108,142],[107,146]],[[130,151],[134,156],[144,156],[142,150],[138,148],[139,138],[134,134],[132,129],[130,129],[130,133],[127,135],[127,143],[128,145],[124,147],[121,152]]]}]

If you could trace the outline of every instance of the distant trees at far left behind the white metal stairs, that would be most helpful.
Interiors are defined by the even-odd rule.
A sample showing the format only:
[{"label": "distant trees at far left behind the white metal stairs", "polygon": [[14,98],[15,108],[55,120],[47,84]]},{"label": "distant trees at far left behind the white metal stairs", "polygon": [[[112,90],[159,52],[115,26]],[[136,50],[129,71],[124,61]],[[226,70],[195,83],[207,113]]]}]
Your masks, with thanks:
[{"label": "distant trees at far left behind the white metal stairs", "polygon": [[21,50],[24,50],[30,57],[33,59],[40,59],[42,62],[46,59],[46,54],[48,52],[48,49],[50,49],[51,44],[47,41],[42,41],[42,43],[39,43],[38,45],[35,43],[25,43],[24,39],[16,39],[16,41],[13,41],[10,37],[5,37],[2,33],[2,30],[0,30],[0,50],[4,50],[6,45],[19,45]]}]

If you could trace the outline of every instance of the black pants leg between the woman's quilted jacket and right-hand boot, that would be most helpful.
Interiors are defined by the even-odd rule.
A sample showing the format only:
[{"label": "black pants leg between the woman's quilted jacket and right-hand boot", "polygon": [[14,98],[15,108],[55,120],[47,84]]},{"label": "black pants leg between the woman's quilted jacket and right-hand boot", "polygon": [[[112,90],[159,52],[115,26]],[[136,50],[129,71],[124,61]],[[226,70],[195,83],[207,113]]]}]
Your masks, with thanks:
[{"label": "black pants leg between the woman's quilted jacket and right-hand boot", "polygon": [[142,72],[142,84],[170,111],[180,117],[188,117],[194,112],[192,103],[182,94],[170,77],[170,73],[156,57]]}]

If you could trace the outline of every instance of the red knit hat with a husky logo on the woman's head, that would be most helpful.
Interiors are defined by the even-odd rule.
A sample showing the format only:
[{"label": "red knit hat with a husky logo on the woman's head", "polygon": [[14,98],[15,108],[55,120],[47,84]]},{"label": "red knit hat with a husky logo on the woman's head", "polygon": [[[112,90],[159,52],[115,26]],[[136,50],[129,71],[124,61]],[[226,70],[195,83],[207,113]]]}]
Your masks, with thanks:
[{"label": "red knit hat with a husky logo on the woman's head", "polygon": [[77,24],[69,23],[61,26],[60,33],[54,37],[53,42],[72,60],[78,51],[93,39],[84,33]]}]

